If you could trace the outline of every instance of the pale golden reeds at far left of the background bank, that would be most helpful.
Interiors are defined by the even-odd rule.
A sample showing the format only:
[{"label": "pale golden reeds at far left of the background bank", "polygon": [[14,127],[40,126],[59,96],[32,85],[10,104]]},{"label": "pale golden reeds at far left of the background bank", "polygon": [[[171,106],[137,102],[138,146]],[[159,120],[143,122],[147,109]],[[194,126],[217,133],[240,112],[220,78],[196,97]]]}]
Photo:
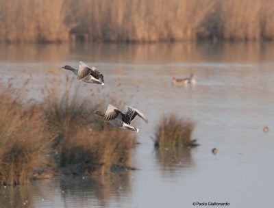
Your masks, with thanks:
[{"label": "pale golden reeds at far left of the background bank", "polygon": [[0,1],[0,40],[5,42],[61,42],[69,40],[63,0]]}]

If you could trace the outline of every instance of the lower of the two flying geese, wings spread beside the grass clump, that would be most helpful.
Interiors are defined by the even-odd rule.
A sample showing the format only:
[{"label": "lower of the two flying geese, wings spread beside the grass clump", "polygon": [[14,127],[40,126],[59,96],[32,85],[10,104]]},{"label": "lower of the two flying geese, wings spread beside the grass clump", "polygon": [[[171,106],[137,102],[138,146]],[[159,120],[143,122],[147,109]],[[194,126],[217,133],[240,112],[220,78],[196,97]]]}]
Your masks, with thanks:
[{"label": "lower of the two flying geese, wings spread beside the grass clump", "polygon": [[138,132],[139,129],[130,125],[130,122],[134,120],[137,115],[145,120],[145,122],[148,122],[144,114],[142,114],[138,109],[130,106],[125,106],[125,109],[123,109],[123,112],[121,112],[118,108],[109,104],[105,114],[100,111],[95,111],[94,113],[102,116],[104,120],[108,120],[108,122],[110,122],[110,124],[114,127],[128,129],[136,132]]}]

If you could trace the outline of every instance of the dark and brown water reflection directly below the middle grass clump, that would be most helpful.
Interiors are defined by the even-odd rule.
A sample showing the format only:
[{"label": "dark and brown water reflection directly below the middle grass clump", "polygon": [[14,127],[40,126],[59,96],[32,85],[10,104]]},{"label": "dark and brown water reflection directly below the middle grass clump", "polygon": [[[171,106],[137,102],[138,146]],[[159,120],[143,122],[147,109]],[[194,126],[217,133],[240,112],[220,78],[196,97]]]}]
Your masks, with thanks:
[{"label": "dark and brown water reflection directly below the middle grass clump", "polygon": [[60,180],[62,200],[66,207],[88,207],[99,203],[100,207],[108,207],[110,200],[121,200],[130,195],[130,172],[112,173],[98,177],[76,177]]}]

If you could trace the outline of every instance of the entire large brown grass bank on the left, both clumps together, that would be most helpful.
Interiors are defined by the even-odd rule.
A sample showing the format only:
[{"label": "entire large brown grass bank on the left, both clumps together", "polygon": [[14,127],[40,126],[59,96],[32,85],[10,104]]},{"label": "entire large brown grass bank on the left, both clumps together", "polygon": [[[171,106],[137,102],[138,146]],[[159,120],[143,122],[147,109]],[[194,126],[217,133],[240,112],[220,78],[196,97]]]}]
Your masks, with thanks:
[{"label": "entire large brown grass bank on the left, both clumps together", "polygon": [[103,101],[90,101],[73,83],[67,79],[64,85],[46,87],[41,103],[24,99],[27,82],[22,88],[1,85],[1,185],[131,167],[134,133],[114,129],[92,114],[99,105],[105,106]]}]

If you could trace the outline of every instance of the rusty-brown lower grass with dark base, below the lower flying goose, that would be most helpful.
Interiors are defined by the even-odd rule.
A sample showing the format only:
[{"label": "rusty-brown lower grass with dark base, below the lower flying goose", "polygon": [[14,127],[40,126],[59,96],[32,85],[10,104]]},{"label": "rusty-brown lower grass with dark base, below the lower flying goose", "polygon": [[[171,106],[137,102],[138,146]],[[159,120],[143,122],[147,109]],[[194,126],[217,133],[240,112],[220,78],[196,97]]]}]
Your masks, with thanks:
[{"label": "rusty-brown lower grass with dark base, below the lower flying goose", "polygon": [[80,129],[60,144],[61,166],[66,174],[105,174],[112,168],[131,168],[134,144],[134,135],[127,131]]}]

